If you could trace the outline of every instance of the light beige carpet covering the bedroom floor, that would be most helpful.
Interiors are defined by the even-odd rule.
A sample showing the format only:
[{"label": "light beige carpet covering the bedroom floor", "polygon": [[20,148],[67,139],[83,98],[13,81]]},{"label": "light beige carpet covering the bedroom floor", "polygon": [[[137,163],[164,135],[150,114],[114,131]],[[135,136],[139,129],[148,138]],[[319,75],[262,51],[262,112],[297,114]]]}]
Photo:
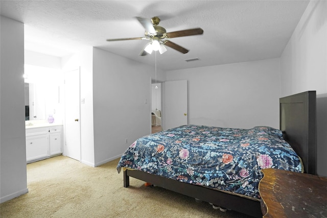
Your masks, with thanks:
[{"label": "light beige carpet covering the bedroom floor", "polygon": [[90,167],[57,156],[27,165],[29,192],[0,205],[1,217],[249,217],[130,178],[123,187],[119,159]]}]

